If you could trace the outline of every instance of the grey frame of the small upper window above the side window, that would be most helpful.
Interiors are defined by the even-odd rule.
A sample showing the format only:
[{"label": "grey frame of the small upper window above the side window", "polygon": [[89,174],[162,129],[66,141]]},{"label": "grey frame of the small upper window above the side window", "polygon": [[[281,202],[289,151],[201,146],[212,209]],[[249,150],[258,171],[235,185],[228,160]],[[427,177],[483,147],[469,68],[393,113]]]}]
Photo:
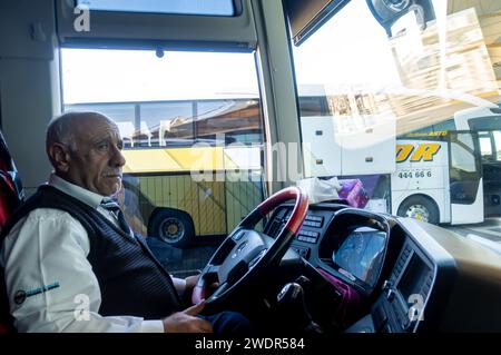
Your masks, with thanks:
[{"label": "grey frame of the small upper window above the side window", "polygon": [[77,31],[81,11],[75,0],[57,0],[57,34],[61,47],[253,51],[257,34],[252,0],[234,3],[234,17],[89,11],[89,31]]}]

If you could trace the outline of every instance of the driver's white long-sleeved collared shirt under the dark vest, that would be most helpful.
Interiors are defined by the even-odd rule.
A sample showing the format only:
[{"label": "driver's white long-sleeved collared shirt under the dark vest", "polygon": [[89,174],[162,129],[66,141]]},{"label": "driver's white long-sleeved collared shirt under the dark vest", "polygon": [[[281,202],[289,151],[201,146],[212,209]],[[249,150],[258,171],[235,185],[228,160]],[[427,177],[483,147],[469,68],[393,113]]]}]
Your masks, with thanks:
[{"label": "driver's white long-sleeved collared shirt under the dark vest", "polygon": [[[50,176],[49,185],[118,224],[112,213],[99,206],[104,196],[55,174]],[[101,293],[87,259],[89,248],[86,229],[66,211],[38,208],[16,224],[4,239],[0,264],[6,269],[7,293],[17,329],[164,332],[160,319],[145,321],[127,315],[105,317],[98,314]],[[185,280],[173,279],[181,294]]]}]

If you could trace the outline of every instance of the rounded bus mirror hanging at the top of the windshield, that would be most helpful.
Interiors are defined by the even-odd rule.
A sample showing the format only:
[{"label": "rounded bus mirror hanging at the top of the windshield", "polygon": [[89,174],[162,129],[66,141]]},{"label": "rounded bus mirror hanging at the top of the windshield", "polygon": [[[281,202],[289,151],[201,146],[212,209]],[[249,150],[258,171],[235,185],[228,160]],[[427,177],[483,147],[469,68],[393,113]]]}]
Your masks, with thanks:
[{"label": "rounded bus mirror hanging at the top of the windshield", "polygon": [[426,22],[435,19],[431,0],[366,0],[372,16],[392,37],[392,26],[403,16],[413,11],[419,27],[424,30]]}]

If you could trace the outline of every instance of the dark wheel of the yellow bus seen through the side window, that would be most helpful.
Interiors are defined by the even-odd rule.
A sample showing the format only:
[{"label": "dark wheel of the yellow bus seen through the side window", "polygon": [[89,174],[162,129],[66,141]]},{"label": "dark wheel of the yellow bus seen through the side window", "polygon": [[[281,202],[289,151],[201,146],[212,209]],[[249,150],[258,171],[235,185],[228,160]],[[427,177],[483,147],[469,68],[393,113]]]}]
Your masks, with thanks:
[{"label": "dark wheel of the yellow bus seen through the side window", "polygon": [[187,247],[195,237],[195,227],[188,214],[176,209],[161,209],[150,221],[148,235],[174,247]]}]

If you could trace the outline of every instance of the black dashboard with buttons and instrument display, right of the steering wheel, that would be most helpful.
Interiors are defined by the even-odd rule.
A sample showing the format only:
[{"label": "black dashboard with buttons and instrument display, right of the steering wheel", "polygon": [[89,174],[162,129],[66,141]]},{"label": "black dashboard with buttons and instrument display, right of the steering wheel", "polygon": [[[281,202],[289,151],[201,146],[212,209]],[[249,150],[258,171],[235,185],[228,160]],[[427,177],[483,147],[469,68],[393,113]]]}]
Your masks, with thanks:
[{"label": "black dashboard with buttons and instrument display, right of the steering wheel", "polygon": [[[264,233],[277,235],[292,208],[275,209]],[[322,285],[307,306],[327,329],[501,332],[501,256],[450,230],[325,203],[310,206],[291,249]]]}]

